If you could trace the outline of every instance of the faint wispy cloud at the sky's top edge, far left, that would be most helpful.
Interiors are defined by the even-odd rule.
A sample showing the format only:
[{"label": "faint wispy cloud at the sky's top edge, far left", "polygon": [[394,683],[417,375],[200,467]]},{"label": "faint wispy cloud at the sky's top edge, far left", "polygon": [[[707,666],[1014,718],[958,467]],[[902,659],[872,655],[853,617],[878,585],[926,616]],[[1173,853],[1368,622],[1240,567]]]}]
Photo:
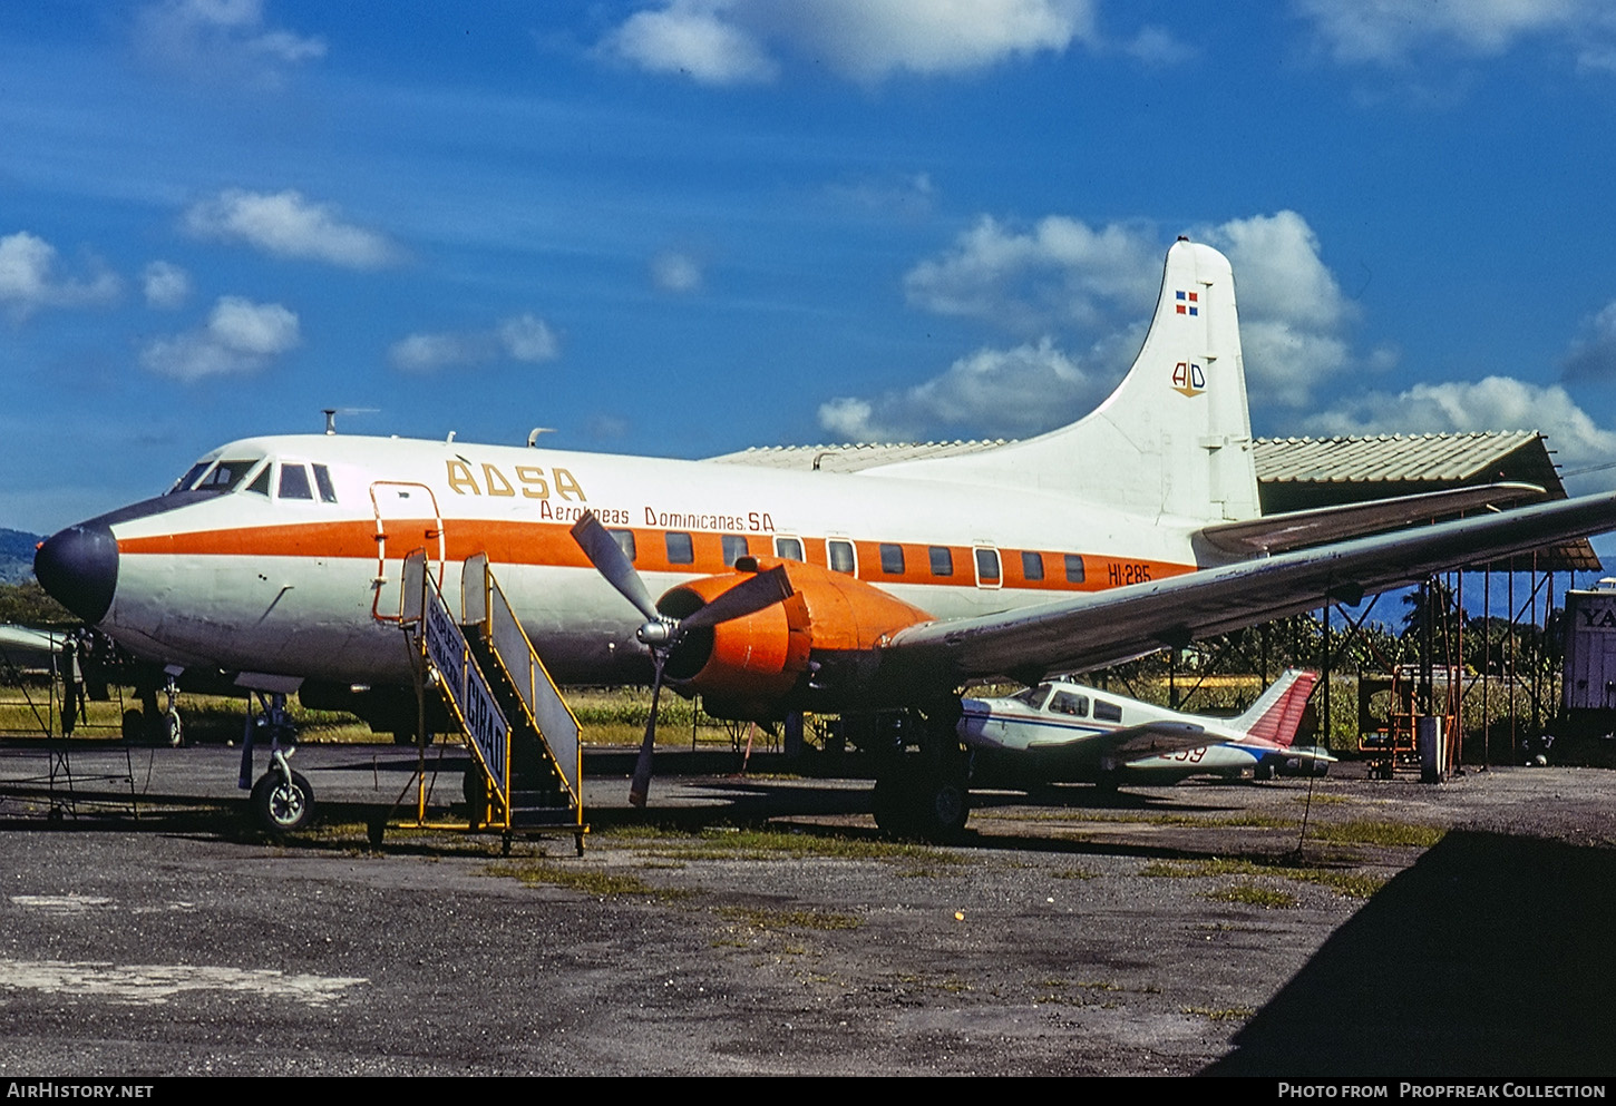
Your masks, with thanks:
[{"label": "faint wispy cloud at the sky's top edge, far left", "polygon": [[204,81],[276,84],[286,66],[325,57],[325,40],[270,27],[262,0],[162,0],[141,10],[136,44]]}]

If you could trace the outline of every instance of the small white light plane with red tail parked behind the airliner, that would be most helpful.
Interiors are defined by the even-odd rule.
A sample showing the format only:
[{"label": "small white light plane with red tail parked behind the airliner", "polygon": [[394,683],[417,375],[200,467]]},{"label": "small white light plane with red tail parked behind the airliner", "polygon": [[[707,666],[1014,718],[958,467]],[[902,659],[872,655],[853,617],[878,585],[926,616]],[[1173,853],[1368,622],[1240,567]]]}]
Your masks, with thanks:
[{"label": "small white light plane with red tail parked behind the airliner", "polygon": [[1070,680],[962,701],[971,783],[1176,783],[1193,775],[1324,775],[1335,757],[1294,744],[1319,673],[1288,668],[1233,718],[1181,714]]}]

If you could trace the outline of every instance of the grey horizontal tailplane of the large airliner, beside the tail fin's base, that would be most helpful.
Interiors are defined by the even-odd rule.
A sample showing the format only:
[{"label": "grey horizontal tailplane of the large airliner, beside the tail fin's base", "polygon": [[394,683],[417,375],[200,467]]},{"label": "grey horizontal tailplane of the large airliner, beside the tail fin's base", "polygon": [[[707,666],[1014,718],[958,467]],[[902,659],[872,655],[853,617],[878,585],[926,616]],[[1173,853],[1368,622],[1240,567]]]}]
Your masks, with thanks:
[{"label": "grey horizontal tailplane of the large airliner, beside the tail fin's base", "polygon": [[1367,504],[1341,504],[1217,523],[1206,526],[1201,538],[1222,552],[1251,557],[1345,538],[1361,538],[1417,522],[1458,515],[1477,507],[1500,507],[1526,499],[1542,499],[1543,494],[1537,484],[1519,483],[1450,488],[1419,496],[1377,499]]}]

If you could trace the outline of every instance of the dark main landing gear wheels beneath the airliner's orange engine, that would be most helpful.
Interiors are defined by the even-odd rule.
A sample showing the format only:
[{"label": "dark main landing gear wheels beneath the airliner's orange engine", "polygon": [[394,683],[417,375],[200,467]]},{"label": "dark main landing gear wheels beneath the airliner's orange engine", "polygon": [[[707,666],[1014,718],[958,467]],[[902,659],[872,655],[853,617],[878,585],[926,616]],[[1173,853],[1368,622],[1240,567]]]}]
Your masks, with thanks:
[{"label": "dark main landing gear wheels beneath the airliner's orange engine", "polygon": [[[971,759],[960,748],[960,701],[874,720],[876,825],[890,836],[957,841],[971,814]],[[910,746],[918,751],[910,752]],[[882,748],[886,746],[886,748]]]}]

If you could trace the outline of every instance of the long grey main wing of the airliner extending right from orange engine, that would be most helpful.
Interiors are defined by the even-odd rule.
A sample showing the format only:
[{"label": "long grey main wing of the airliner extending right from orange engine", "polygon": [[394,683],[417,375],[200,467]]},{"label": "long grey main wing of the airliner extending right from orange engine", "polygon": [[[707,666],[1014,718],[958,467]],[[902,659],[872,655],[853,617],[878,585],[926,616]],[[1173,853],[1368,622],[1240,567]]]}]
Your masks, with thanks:
[{"label": "long grey main wing of the airliner extending right from orange engine", "polygon": [[1356,538],[992,615],[928,622],[881,646],[877,678],[908,694],[1008,675],[1033,683],[1183,646],[1433,572],[1616,530],[1616,492]]}]

